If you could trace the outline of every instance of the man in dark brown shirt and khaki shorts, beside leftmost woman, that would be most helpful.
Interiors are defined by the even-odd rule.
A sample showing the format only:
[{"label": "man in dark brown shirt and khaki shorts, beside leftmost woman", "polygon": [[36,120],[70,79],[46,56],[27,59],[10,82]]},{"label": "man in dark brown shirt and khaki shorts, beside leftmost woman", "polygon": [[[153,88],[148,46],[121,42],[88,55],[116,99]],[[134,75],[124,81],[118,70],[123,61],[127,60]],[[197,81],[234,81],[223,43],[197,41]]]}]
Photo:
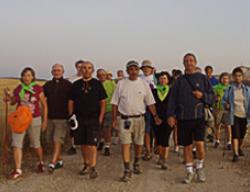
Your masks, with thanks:
[{"label": "man in dark brown shirt and khaki shorts, beside leftmost woman", "polygon": [[48,103],[48,126],[46,130],[47,143],[54,143],[52,161],[49,171],[63,167],[61,156],[62,144],[67,134],[68,100],[71,83],[63,78],[64,68],[55,64],[51,71],[53,79],[44,85],[44,94]]}]

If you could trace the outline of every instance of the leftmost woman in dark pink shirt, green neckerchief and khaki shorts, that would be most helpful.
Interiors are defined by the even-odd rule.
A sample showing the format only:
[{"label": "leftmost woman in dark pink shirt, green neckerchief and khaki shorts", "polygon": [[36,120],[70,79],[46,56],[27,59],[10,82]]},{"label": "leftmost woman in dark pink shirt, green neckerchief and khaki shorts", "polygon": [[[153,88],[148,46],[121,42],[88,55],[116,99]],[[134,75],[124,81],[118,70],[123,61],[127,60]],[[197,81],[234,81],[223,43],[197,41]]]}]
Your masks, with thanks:
[{"label": "leftmost woman in dark pink shirt, green neckerchief and khaki shorts", "polygon": [[[5,99],[11,105],[27,106],[32,113],[32,122],[28,129],[22,133],[12,132],[12,147],[14,153],[15,169],[11,172],[9,179],[17,179],[22,176],[22,156],[23,140],[28,133],[30,147],[34,149],[37,157],[37,172],[44,171],[43,149],[41,147],[40,136],[47,126],[47,103],[43,93],[43,88],[35,80],[35,71],[32,68],[25,68],[21,72],[21,84],[14,90],[13,95],[6,91]],[[42,110],[40,108],[42,106]]]}]

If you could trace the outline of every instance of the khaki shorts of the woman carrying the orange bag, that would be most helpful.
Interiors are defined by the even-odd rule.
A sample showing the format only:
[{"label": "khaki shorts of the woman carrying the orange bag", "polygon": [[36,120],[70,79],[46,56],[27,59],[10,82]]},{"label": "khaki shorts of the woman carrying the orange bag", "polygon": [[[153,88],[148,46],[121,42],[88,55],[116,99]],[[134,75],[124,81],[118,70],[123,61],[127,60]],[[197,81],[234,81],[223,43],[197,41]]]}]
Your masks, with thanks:
[{"label": "khaki shorts of the woman carrying the orange bag", "polygon": [[12,132],[12,146],[23,148],[23,140],[28,133],[30,139],[30,147],[39,148],[41,147],[41,117],[33,118],[30,127],[24,133]]}]

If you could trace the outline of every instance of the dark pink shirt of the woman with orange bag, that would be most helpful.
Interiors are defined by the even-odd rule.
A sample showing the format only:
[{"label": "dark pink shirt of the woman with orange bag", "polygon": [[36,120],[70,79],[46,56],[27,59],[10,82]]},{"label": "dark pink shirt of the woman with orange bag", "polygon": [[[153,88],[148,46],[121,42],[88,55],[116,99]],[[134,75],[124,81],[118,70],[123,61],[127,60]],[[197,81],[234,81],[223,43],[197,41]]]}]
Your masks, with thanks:
[{"label": "dark pink shirt of the woman with orange bag", "polygon": [[25,96],[23,100],[21,100],[19,93],[22,90],[22,86],[19,85],[14,90],[14,97],[16,99],[17,105],[27,105],[30,107],[30,110],[33,114],[33,117],[40,117],[41,116],[41,109],[40,109],[40,94],[43,92],[43,88],[40,85],[35,85],[33,87],[34,94],[29,92],[25,92]]}]

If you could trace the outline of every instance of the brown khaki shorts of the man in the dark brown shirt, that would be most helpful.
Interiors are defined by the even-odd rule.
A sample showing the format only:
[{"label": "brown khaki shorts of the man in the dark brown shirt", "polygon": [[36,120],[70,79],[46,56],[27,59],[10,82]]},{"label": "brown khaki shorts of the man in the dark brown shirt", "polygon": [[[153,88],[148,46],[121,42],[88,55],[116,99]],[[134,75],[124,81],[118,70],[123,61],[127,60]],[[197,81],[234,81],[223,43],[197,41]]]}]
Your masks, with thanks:
[{"label": "brown khaki shorts of the man in the dark brown shirt", "polygon": [[64,144],[68,124],[65,119],[49,119],[45,137],[48,144],[55,142]]}]

